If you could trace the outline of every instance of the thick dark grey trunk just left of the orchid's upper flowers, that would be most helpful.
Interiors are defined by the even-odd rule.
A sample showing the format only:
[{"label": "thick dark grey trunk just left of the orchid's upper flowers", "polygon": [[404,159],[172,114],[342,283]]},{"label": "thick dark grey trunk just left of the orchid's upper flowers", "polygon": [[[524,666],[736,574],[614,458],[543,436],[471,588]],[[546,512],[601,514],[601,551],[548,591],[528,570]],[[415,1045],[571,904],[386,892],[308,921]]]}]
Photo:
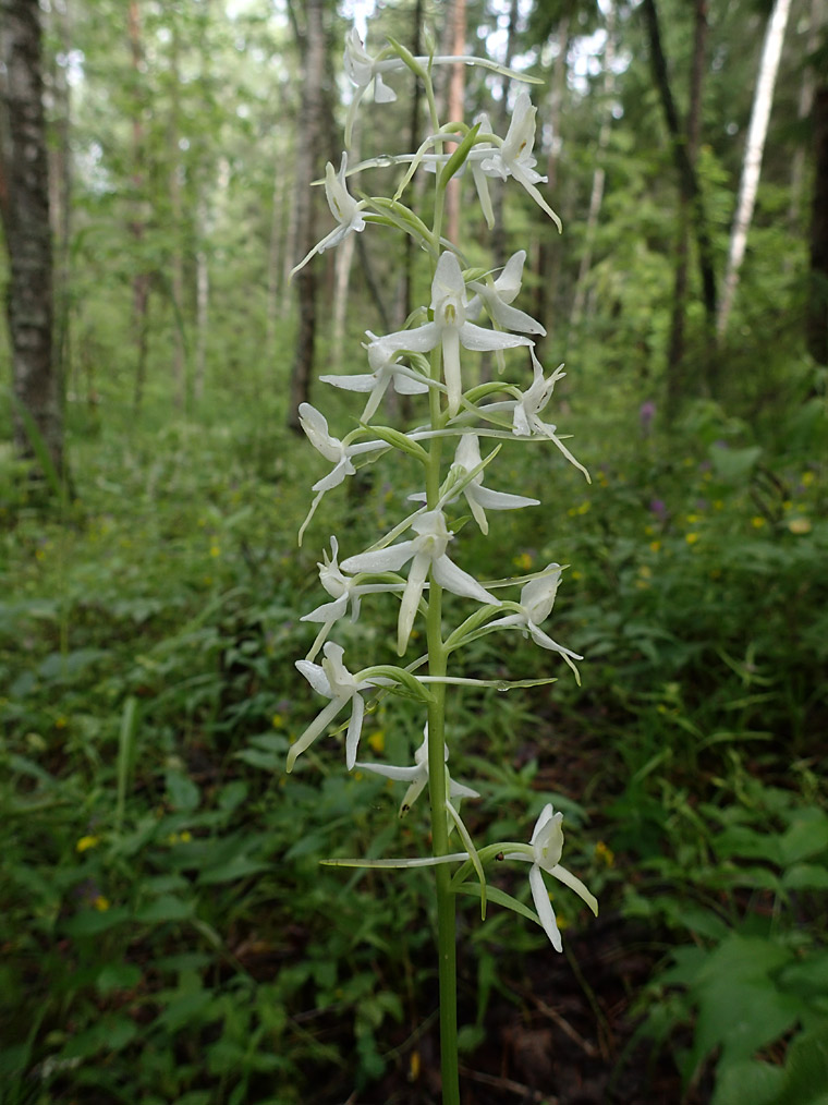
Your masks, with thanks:
[{"label": "thick dark grey trunk just left of the orchid's upper flowers", "polygon": [[[325,0],[305,0],[304,29],[297,25],[299,50],[302,55],[302,99],[299,116],[299,135],[296,151],[296,200],[294,219],[296,223],[297,259],[305,256],[317,242],[316,204],[310,182],[319,175],[319,152],[323,141],[326,125],[326,97],[323,93],[326,73]],[[297,273],[296,290],[299,306],[299,326],[296,336],[296,351],[290,371],[290,401],[287,424],[296,433],[301,432],[299,404],[307,402],[310,394],[310,378],[314,370],[314,354],[317,332],[317,266],[311,261]]]}]

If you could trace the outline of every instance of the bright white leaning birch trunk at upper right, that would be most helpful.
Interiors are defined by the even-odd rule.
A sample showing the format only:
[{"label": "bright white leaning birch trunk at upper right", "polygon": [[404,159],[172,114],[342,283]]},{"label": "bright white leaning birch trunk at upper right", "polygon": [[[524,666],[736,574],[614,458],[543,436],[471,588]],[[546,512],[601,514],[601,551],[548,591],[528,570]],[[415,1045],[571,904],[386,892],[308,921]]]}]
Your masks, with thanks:
[{"label": "bright white leaning birch trunk at upper right", "polygon": [[730,236],[724,288],[716,317],[715,329],[719,340],[726,333],[728,322],[733,309],[733,299],[739,286],[739,272],[744,260],[747,232],[751,228],[753,209],[756,203],[756,190],[758,189],[760,172],[762,170],[762,155],[765,149],[765,138],[767,136],[767,123],[771,118],[776,74],[779,69],[782,44],[785,40],[785,28],[787,27],[789,11],[790,0],[775,0],[767,31],[765,32],[765,43],[762,48],[762,60],[760,62],[756,91],[753,97],[753,108],[751,110],[751,124],[747,128],[747,141],[742,162],[742,179],[739,185],[736,213],[733,219],[733,229]]}]

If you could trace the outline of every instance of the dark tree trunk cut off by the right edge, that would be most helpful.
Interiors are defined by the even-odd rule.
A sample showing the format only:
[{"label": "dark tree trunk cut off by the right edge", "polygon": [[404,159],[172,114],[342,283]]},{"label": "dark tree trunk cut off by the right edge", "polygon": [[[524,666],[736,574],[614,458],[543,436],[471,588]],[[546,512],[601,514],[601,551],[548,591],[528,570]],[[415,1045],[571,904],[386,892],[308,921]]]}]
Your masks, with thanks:
[{"label": "dark tree trunk cut off by the right edge", "polygon": [[814,96],[813,118],[816,169],[806,339],[814,360],[828,365],[828,82]]}]

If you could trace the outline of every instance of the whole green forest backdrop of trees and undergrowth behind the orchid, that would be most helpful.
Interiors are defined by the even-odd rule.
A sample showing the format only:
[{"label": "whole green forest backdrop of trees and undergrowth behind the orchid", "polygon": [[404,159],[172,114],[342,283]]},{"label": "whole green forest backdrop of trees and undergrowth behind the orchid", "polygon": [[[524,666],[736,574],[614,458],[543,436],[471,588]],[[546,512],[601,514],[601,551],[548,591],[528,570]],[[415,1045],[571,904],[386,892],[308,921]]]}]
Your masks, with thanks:
[{"label": "whole green forest backdrop of trees and undergrowth behind the orchid", "polygon": [[[382,780],[342,778],[333,738],[284,786],[290,738],[315,712],[293,665],[312,635],[298,617],[319,550],[331,529],[372,533],[404,498],[381,461],[329,496],[297,549],[321,467],[296,409],[322,387],[314,371],[363,371],[365,329],[396,329],[427,301],[420,259],[371,229],[288,280],[330,227],[307,185],[338,164],[342,42],[367,8],[0,6],[2,280],[11,303],[10,29],[39,11],[39,240],[54,301],[38,393],[60,399],[39,409],[21,387],[12,314],[0,346],[3,1105],[422,1105],[438,1092],[417,873],[318,866],[389,854],[401,838],[425,846],[415,814],[401,828]],[[573,870],[602,906],[593,922],[555,895],[560,959],[529,925],[493,912],[480,926],[469,909],[468,1101],[818,1105],[824,0],[397,0],[373,14],[372,50],[389,33],[423,52],[427,25],[440,52],[543,82],[535,152],[564,233],[527,197],[496,194],[496,253],[532,243],[521,305],[548,329],[546,362],[566,364],[561,422],[593,474],[587,488],[552,457],[516,457],[511,490],[553,483],[554,506],[498,518],[497,567],[464,533],[480,578],[505,555],[516,570],[571,565],[555,635],[586,656],[581,686],[562,676],[523,699],[458,699],[457,774],[482,777],[470,827],[521,839],[518,810],[553,796]],[[781,55],[757,162],[771,29]],[[464,76],[466,117],[488,109],[505,133],[514,90]],[[401,136],[415,148],[422,112],[413,86],[369,105],[360,156]],[[460,204],[455,218],[474,254],[479,217]],[[337,396],[327,410],[354,419]],[[546,674],[529,644],[509,661]],[[485,641],[475,663],[505,670]],[[365,739],[396,761],[420,743],[393,699]],[[521,893],[508,874],[503,885]]]}]

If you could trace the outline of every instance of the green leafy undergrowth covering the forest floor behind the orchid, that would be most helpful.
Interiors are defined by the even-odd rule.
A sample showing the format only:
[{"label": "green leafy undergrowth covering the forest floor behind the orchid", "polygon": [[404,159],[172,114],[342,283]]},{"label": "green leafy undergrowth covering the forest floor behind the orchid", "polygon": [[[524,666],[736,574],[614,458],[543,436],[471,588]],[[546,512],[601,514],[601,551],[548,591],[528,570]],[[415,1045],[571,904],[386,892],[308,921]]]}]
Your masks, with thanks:
[{"label": "green leafy undergrowth covering the forest floor behind the orchid", "polygon": [[[517,811],[551,797],[602,905],[593,922],[556,895],[556,957],[529,923],[492,906],[480,925],[469,903],[465,1093],[817,1105],[819,412],[760,433],[698,404],[661,436],[630,403],[606,410],[606,425],[572,415],[591,487],[516,460],[513,490],[555,481],[555,508],[498,518],[499,564],[464,534],[478,578],[505,558],[569,564],[555,635],[587,655],[581,687],[562,673],[529,696],[457,696],[457,776],[481,792],[470,827],[521,839]],[[74,418],[63,513],[15,498],[8,465],[0,477],[0,1101],[435,1099],[428,876],[318,864],[425,848],[416,812],[400,822],[399,788],[343,775],[341,735],[284,777],[315,709],[293,664],[318,550],[330,529],[395,518],[412,488],[392,491],[380,462],[297,549],[319,473],[274,430],[280,412],[140,433],[117,412],[97,430]],[[354,645],[381,641],[373,627]],[[489,638],[473,662],[531,677],[538,652]],[[380,701],[365,754],[403,761],[418,743],[404,704]],[[524,883],[503,871],[510,893]]]}]

